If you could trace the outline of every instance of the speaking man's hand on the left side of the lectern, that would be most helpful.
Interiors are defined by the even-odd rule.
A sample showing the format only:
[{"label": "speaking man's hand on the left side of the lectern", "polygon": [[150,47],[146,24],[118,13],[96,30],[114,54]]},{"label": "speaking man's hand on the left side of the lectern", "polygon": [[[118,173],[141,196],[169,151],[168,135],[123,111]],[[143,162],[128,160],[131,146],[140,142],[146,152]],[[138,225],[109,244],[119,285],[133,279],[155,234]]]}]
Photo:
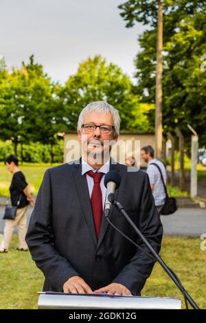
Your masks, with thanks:
[{"label": "speaking man's hand on the left side of the lectern", "polygon": [[80,277],[73,276],[65,282],[63,285],[64,293],[73,293],[73,294],[89,294],[93,293],[89,285]]}]

